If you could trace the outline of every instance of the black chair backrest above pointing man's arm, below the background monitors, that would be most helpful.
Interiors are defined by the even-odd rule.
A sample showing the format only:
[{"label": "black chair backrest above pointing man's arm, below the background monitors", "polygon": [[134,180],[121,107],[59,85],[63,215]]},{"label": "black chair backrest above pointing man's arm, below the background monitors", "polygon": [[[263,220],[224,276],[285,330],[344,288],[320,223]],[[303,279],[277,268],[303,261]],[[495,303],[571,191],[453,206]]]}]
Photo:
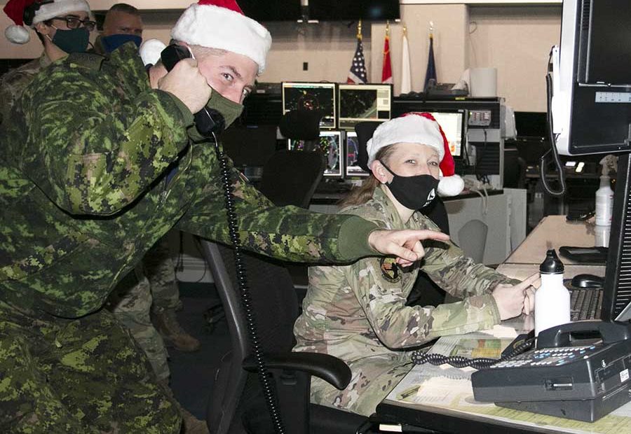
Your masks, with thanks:
[{"label": "black chair backrest above pointing man's arm, below the background monitors", "polygon": [[320,151],[277,151],[263,166],[259,191],[278,207],[308,208],[325,167]]}]

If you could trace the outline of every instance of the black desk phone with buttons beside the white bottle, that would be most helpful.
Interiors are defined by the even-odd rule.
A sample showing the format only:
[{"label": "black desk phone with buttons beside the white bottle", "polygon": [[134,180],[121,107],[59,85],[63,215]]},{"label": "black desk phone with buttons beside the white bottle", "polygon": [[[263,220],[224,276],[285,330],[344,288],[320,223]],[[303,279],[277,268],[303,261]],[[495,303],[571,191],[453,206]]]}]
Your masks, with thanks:
[{"label": "black desk phone with buttons beside the white bottle", "polygon": [[479,401],[593,422],[631,400],[630,370],[631,323],[576,321],[543,330],[536,349],[471,382]]}]

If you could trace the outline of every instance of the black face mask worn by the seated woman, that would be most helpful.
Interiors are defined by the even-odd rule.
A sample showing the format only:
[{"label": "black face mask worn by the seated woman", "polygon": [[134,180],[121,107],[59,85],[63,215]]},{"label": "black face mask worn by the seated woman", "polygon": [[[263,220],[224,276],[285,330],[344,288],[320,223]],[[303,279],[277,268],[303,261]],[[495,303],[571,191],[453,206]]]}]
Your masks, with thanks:
[{"label": "black face mask worn by the seated woman", "polygon": [[438,188],[437,179],[431,175],[399,176],[384,165],[384,162],[379,162],[394,176],[388,183],[388,188],[400,204],[407,209],[422,209],[432,203]]}]

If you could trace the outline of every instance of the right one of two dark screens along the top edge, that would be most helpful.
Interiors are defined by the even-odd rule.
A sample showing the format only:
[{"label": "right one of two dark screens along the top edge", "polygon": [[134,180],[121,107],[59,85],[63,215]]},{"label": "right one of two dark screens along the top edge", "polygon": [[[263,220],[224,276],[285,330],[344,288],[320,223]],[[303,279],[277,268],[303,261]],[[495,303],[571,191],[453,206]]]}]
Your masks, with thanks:
[{"label": "right one of two dark screens along the top edge", "polygon": [[398,20],[399,0],[308,0],[311,20]]}]

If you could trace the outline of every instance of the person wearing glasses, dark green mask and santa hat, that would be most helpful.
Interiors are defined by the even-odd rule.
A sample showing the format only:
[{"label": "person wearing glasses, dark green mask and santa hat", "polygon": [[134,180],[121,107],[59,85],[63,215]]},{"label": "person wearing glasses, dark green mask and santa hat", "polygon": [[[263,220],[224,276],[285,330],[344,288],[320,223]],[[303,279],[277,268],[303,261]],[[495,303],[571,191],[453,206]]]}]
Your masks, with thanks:
[{"label": "person wearing glasses, dark green mask and santa hat", "polygon": [[27,43],[30,40],[29,30],[24,27],[27,25],[34,29],[43,52],[39,58],[0,78],[0,124],[8,118],[15,101],[36,73],[71,52],[85,52],[90,31],[96,28],[85,0],[10,0],[4,12],[15,22],[4,31],[6,38],[12,43]]}]

